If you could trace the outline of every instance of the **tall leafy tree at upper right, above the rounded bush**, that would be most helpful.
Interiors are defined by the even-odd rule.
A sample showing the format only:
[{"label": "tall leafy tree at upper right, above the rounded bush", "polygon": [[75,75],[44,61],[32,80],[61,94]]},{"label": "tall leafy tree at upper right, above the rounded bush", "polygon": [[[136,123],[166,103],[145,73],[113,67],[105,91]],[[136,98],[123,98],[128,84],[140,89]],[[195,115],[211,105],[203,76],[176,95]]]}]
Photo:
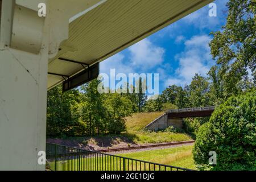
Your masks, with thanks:
[{"label": "tall leafy tree at upper right, above the rounded bush", "polygon": [[[254,0],[230,0],[227,5],[226,25],[222,31],[212,33],[214,38],[210,42],[224,98],[238,95],[248,86],[255,87],[256,78],[256,3]],[[250,72],[253,81],[250,81]]]}]

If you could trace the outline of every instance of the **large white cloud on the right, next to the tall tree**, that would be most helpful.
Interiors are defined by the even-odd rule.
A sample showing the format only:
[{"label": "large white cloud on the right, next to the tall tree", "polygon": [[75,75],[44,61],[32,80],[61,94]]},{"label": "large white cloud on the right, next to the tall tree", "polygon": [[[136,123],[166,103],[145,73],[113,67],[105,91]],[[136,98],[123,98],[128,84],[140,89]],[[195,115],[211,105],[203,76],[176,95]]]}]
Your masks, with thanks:
[{"label": "large white cloud on the right, next to the tall tree", "polygon": [[210,56],[209,42],[211,38],[207,35],[193,36],[186,40],[183,52],[175,57],[179,61],[179,68],[175,76],[166,81],[166,86],[176,84],[184,86],[189,84],[195,73],[206,76],[214,61]]}]

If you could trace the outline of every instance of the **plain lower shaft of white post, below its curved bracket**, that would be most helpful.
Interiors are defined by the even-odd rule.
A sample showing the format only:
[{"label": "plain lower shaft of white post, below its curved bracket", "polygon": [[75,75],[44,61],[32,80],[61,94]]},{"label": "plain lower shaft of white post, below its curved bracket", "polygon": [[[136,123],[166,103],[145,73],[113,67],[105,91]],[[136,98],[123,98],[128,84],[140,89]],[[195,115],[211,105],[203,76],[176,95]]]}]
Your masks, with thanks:
[{"label": "plain lower shaft of white post, below its curved bracket", "polygon": [[45,170],[48,57],[0,51],[0,170]]}]

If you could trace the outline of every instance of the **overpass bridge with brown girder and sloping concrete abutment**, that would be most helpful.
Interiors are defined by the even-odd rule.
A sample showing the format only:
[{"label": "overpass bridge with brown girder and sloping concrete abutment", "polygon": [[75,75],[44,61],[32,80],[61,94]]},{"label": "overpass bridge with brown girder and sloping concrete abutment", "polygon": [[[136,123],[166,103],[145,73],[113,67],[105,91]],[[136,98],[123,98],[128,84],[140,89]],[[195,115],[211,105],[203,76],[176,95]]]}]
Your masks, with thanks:
[{"label": "overpass bridge with brown girder and sloping concrete abutment", "polygon": [[145,129],[158,131],[164,130],[169,126],[182,129],[183,118],[210,117],[214,109],[215,106],[171,109],[149,123]]}]

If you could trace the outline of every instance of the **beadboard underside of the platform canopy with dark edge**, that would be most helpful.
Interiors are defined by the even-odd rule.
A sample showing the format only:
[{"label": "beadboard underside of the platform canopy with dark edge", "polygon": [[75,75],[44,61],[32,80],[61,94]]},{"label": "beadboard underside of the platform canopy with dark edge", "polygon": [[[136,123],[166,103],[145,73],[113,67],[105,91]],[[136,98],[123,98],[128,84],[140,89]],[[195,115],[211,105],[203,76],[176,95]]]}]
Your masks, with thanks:
[{"label": "beadboard underside of the platform canopy with dark edge", "polygon": [[[108,0],[69,23],[69,39],[49,60],[48,89],[176,22],[212,0]],[[71,61],[67,61],[71,60]],[[73,61],[73,62],[72,62]],[[79,63],[75,63],[75,62]]]}]

